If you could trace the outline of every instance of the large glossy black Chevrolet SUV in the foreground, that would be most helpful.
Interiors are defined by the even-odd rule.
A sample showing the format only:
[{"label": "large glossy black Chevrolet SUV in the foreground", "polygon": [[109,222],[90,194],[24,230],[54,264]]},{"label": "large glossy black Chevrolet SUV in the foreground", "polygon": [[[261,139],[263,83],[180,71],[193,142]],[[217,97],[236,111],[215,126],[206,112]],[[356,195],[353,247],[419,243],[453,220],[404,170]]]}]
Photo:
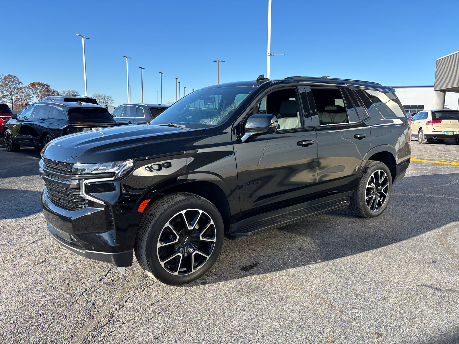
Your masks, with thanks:
[{"label": "large glossy black Chevrolet SUV in the foreground", "polygon": [[394,89],[290,77],[197,90],[143,125],[53,140],[41,203],[68,250],[163,283],[202,276],[237,238],[349,207],[375,217],[410,161]]}]

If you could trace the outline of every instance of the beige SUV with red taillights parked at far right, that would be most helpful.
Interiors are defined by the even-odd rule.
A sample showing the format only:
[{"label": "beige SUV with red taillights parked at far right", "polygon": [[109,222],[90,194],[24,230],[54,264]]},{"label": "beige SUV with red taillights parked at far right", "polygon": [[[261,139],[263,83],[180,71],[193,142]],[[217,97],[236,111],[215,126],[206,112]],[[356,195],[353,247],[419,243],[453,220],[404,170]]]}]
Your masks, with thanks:
[{"label": "beige SUV with red taillights parked at far right", "polygon": [[459,111],[420,111],[411,119],[411,132],[420,144],[431,140],[456,140],[459,144]]}]

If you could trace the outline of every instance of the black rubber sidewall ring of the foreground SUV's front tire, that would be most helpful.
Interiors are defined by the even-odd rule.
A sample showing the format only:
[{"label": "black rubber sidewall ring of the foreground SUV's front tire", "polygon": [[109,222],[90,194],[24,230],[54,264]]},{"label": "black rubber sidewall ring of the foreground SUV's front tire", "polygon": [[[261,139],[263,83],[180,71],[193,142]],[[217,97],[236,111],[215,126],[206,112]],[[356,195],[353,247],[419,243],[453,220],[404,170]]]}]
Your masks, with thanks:
[{"label": "black rubber sidewall ring of the foreground SUV's front tire", "polygon": [[[176,276],[167,272],[159,263],[157,256],[157,242],[164,225],[172,218],[172,216],[186,209],[199,209],[205,211],[212,218],[215,224],[217,238],[210,258],[202,267],[190,274]],[[153,222],[146,240],[146,260],[153,275],[155,275],[155,277],[157,277],[157,279],[161,282],[173,285],[188,283],[204,275],[213,266],[215,261],[217,261],[218,255],[223,246],[223,238],[223,220],[217,208],[215,208],[212,203],[202,198],[180,200],[166,211],[163,211],[162,214],[157,217],[157,220]]]}]

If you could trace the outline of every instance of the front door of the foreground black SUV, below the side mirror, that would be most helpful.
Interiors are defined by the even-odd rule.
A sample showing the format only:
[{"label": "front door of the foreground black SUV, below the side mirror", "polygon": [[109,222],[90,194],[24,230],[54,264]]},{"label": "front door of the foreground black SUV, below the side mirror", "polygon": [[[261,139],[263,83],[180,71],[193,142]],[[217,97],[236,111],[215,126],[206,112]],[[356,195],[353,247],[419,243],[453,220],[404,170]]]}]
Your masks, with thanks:
[{"label": "front door of the foreground black SUV, below the side mirror", "polygon": [[[270,94],[274,92],[270,93],[251,112],[274,112],[276,117],[282,119],[287,114],[278,112],[280,104],[284,101],[290,102],[293,98],[298,104],[300,128],[278,129],[275,133],[258,136],[250,142],[241,142],[238,139],[234,144],[242,218],[305,202],[314,197],[316,133],[312,127],[303,127],[304,115],[297,91],[295,90],[294,97],[287,97],[285,100],[270,100]],[[293,116],[293,112],[289,116],[292,122],[297,118]],[[299,142],[308,140],[314,141],[314,144],[298,145]]]}]

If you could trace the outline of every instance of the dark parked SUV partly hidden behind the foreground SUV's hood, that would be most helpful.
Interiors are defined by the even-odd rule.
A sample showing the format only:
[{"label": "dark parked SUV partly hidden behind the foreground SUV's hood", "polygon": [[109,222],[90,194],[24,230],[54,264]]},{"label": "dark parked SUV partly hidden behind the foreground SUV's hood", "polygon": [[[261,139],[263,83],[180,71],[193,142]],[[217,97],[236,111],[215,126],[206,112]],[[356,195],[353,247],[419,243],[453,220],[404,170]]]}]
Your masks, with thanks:
[{"label": "dark parked SUV partly hidden behind the foreground SUV's hood", "polygon": [[112,117],[119,125],[139,124],[157,117],[169,105],[161,104],[122,104],[112,111]]}]

